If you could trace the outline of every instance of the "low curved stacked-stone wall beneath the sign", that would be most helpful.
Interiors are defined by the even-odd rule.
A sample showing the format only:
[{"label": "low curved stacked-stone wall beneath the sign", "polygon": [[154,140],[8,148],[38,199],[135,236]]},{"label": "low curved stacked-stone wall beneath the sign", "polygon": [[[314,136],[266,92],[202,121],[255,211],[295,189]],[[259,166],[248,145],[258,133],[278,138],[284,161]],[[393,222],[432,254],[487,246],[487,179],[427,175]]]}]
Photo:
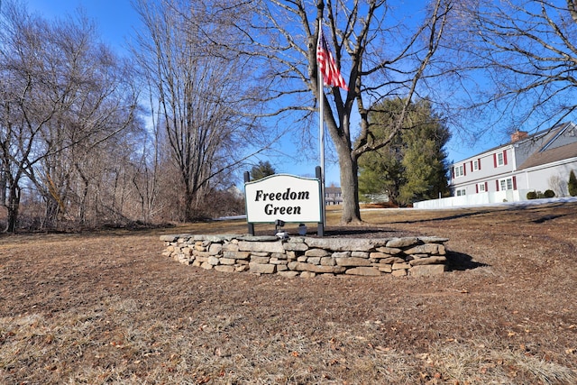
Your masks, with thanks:
[{"label": "low curved stacked-stone wall beneath the sign", "polygon": [[318,274],[434,275],[446,268],[447,238],[390,239],[248,235],[162,235],[163,255],[206,270],[285,277]]}]

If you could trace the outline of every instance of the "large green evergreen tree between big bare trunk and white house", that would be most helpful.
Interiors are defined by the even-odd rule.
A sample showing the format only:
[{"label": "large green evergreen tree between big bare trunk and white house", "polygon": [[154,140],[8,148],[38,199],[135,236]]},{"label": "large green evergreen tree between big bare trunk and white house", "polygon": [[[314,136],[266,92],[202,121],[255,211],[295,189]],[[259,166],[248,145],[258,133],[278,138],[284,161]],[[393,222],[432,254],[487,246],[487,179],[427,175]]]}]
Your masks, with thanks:
[{"label": "large green evergreen tree between big bare trunk and white house", "polygon": [[[383,137],[391,134],[389,122],[400,113],[402,105],[402,100],[395,99],[376,106],[378,112],[370,116],[375,134]],[[411,103],[403,129],[389,145],[360,158],[360,192],[365,196],[387,194],[390,201],[400,206],[447,194],[444,145],[450,137],[428,101]]]}]

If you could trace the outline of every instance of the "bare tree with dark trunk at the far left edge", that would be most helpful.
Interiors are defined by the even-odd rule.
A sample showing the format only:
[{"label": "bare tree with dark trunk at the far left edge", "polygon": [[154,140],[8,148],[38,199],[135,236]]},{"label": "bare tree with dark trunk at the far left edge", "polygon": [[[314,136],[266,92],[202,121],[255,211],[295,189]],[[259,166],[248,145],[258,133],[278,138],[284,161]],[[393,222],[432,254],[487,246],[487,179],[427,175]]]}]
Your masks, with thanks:
[{"label": "bare tree with dark trunk at the far left edge", "polygon": [[14,5],[5,6],[1,15],[0,147],[7,190],[3,203],[7,210],[5,231],[14,232],[23,183],[33,174],[32,166],[38,161],[35,143],[43,124],[55,111],[42,104],[35,87],[39,67],[35,52],[41,44],[41,37],[35,32],[41,23]]}]

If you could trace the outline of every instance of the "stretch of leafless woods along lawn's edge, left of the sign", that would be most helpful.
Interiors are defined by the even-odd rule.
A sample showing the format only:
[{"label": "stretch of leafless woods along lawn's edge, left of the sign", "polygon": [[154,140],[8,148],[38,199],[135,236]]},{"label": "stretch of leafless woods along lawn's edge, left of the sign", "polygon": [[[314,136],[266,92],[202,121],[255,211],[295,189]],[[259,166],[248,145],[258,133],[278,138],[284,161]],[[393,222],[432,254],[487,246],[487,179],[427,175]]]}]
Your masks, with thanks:
[{"label": "stretch of leafless woods along lawn's edge, left of the sign", "polygon": [[6,232],[243,210],[231,175],[246,157],[242,141],[258,144],[257,120],[243,114],[243,70],[203,45],[192,28],[202,10],[137,6],[145,28],[127,59],[100,42],[83,14],[49,21],[3,4]]}]

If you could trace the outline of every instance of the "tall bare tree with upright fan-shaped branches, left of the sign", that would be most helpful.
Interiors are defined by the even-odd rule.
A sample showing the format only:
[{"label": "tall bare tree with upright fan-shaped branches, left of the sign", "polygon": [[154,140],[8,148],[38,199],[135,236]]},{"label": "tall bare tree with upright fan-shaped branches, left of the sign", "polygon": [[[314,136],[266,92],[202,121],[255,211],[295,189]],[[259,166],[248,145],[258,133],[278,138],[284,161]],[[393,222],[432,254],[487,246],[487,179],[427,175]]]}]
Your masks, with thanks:
[{"label": "tall bare tree with upright fan-shaped branches, left of the sign", "polygon": [[190,220],[213,184],[241,164],[243,149],[257,143],[255,120],[243,113],[250,68],[207,41],[199,28],[202,5],[139,0],[137,10],[145,31],[134,55],[151,85],[154,129],[164,130]]}]

